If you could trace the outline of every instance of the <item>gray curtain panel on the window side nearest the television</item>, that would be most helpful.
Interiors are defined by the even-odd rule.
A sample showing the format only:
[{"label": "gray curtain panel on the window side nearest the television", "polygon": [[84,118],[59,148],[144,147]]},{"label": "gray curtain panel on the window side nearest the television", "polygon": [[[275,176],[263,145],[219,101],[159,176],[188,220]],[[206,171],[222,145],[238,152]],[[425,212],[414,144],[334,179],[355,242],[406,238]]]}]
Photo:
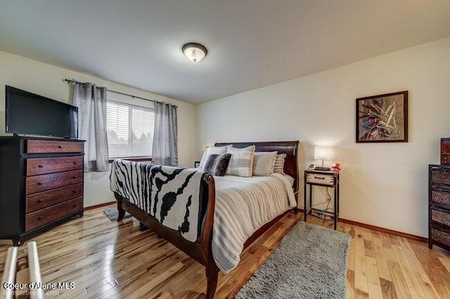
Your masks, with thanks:
[{"label": "gray curtain panel on the window side nearest the television", "polygon": [[79,139],[86,140],[84,172],[109,171],[106,88],[75,81],[73,104],[78,107]]}]

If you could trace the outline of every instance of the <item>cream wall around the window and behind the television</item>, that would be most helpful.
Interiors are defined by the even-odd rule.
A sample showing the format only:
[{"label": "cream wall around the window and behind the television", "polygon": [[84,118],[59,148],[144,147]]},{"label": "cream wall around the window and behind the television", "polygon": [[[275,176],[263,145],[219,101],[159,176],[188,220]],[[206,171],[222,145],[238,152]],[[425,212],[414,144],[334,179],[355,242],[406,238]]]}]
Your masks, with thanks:
[{"label": "cream wall around the window and behind the television", "polygon": [[[3,51],[0,51],[0,135],[10,135],[5,133],[5,85],[44,95],[61,102],[69,102],[72,98],[69,92],[70,86],[61,81],[65,78],[90,81],[98,86],[106,86],[113,91],[177,105],[179,165],[182,167],[193,166],[195,158],[195,107],[193,105]],[[122,99],[127,101],[127,97],[122,97]],[[108,172],[84,175],[84,206],[94,206],[114,200],[113,193],[109,189]]]}]

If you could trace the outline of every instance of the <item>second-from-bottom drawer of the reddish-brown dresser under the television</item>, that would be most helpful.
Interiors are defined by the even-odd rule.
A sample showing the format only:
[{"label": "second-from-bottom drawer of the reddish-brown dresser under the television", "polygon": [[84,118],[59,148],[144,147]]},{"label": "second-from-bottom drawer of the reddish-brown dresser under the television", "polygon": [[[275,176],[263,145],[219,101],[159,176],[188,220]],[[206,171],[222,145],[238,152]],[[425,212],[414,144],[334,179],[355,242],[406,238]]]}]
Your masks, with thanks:
[{"label": "second-from-bottom drawer of the reddish-brown dresser under the television", "polygon": [[75,197],[82,197],[82,195],[82,184],[27,195],[27,208],[25,213],[31,213],[41,208],[53,206],[54,204],[59,204],[60,202],[74,199]]}]

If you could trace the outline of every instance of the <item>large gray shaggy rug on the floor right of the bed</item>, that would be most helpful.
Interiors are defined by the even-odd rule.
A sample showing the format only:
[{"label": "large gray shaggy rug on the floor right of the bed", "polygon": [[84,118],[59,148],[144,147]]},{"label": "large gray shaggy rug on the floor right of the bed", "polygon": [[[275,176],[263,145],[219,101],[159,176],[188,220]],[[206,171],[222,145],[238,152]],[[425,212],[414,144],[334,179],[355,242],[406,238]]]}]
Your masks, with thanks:
[{"label": "large gray shaggy rug on the floor right of the bed", "polygon": [[345,298],[350,239],[298,222],[236,298]]}]

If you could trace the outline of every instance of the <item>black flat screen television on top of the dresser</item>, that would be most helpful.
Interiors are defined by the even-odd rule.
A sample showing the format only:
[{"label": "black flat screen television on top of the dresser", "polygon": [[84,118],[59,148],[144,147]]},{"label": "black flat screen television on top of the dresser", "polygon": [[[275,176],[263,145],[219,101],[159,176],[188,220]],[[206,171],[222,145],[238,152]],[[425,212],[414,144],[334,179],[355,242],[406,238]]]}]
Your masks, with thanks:
[{"label": "black flat screen television on top of the dresser", "polygon": [[6,133],[78,138],[78,108],[6,86]]}]

